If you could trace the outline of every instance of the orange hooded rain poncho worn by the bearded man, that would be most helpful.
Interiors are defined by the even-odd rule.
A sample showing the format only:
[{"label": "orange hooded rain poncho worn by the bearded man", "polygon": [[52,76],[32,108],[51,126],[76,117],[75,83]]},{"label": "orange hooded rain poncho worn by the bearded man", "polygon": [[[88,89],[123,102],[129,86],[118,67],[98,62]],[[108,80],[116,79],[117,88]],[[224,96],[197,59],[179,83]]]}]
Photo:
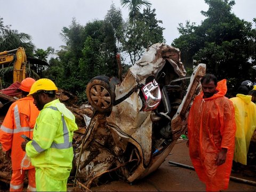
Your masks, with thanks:
[{"label": "orange hooded rain poncho worn by the bearded man", "polygon": [[[189,155],[196,173],[207,191],[227,189],[235,147],[235,111],[225,97],[226,79],[218,82],[212,97],[203,99],[199,94],[190,108],[188,117]],[[221,148],[227,148],[226,162],[217,166]]]}]

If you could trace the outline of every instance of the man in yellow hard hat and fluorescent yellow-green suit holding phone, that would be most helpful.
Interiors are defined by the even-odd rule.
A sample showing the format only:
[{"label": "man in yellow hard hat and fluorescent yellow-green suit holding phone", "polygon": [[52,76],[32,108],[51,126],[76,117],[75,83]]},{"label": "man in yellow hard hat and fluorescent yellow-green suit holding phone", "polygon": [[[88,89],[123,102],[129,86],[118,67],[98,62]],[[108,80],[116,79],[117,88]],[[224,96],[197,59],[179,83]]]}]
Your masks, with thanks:
[{"label": "man in yellow hard hat and fluorescent yellow-green suit holding phone", "polygon": [[37,191],[66,191],[72,168],[73,132],[77,130],[75,116],[59,99],[57,86],[46,78],[36,81],[28,94],[40,110],[32,141],[21,147],[31,157],[36,169]]}]

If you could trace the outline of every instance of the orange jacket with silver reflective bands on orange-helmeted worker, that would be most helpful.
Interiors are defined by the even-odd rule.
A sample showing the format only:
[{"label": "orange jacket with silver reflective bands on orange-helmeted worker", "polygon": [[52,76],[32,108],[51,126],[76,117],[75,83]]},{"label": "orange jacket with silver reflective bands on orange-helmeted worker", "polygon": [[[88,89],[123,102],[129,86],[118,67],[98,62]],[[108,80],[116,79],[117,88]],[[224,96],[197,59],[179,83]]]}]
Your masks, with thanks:
[{"label": "orange jacket with silver reflective bands on orange-helmeted worker", "polygon": [[[21,98],[10,106],[4,122],[0,128],[0,142],[3,151],[12,150],[12,169],[21,169],[20,164],[26,152],[21,149],[21,143],[25,141],[20,135],[25,134],[30,139],[33,138],[34,125],[39,110],[33,103],[32,97]],[[31,169],[29,166],[23,169]]]}]

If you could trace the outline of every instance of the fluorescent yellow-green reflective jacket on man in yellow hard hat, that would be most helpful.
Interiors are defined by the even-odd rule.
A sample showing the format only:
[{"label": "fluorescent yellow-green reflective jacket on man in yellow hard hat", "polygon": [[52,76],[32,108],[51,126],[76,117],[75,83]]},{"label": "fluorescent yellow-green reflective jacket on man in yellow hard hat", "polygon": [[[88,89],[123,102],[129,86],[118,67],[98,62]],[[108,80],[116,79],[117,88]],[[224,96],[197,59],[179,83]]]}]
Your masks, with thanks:
[{"label": "fluorescent yellow-green reflective jacket on man in yellow hard hat", "polygon": [[73,161],[73,131],[75,116],[58,99],[47,103],[36,119],[33,141],[26,152],[31,163],[49,177],[64,180],[69,177]]}]

